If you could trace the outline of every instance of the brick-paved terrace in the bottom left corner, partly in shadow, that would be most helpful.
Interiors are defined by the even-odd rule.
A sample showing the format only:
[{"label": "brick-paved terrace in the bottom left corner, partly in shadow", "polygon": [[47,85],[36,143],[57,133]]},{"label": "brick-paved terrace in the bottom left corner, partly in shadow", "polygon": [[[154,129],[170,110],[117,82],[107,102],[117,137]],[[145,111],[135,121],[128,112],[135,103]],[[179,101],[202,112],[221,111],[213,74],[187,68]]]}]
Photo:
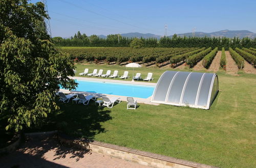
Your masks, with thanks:
[{"label": "brick-paved terrace in the bottom left corner, partly in shadow", "polygon": [[31,138],[0,157],[0,167],[146,167],[98,153],[60,146],[53,138]]}]

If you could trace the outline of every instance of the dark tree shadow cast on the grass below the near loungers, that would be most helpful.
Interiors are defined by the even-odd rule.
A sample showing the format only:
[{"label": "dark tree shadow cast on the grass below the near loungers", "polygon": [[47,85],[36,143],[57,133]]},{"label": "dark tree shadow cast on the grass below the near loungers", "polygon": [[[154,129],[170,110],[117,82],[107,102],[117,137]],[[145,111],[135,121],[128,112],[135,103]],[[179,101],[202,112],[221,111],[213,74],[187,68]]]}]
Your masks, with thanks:
[{"label": "dark tree shadow cast on the grass below the near loungers", "polygon": [[110,110],[101,109],[94,102],[89,105],[58,103],[60,110],[51,116],[56,130],[75,137],[93,139],[98,133],[105,132],[101,122],[111,120]]}]

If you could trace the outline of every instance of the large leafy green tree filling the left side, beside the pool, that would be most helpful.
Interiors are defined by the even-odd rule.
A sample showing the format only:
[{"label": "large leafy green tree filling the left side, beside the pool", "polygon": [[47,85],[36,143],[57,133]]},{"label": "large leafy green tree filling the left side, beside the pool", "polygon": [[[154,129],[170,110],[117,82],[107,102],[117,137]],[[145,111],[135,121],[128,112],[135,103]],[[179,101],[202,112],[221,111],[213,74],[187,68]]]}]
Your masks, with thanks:
[{"label": "large leafy green tree filling the left side, beside the pool", "polygon": [[8,118],[6,130],[18,132],[58,109],[55,93],[59,85],[75,88],[68,77],[75,67],[42,29],[49,18],[43,3],[0,1],[0,16],[0,113]]}]

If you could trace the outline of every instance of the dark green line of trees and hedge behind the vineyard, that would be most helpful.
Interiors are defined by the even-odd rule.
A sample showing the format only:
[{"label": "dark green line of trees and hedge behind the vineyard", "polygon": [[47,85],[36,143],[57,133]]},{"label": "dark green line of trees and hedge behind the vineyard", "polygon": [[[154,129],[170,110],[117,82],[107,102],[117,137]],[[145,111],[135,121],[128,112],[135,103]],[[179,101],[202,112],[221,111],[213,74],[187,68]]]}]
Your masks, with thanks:
[{"label": "dark green line of trees and hedge behind the vineyard", "polygon": [[[79,36],[79,37],[78,37]],[[118,34],[115,35],[108,35],[106,39],[99,38],[96,35],[92,35],[89,38],[78,31],[75,34],[74,38],[71,39],[56,39],[53,38],[53,41],[56,46],[87,46],[87,47],[130,47],[131,42],[133,40],[138,40],[138,38],[125,38],[119,35],[118,41]],[[242,47],[256,47],[256,38],[249,39],[249,38],[211,38],[211,37],[178,37],[176,34],[172,38],[169,37],[162,37],[161,39],[157,40],[156,38],[148,38],[143,39],[140,38],[140,41],[143,42],[143,47],[178,47],[178,48],[191,48],[191,47],[212,47],[221,49],[224,47],[228,50],[229,47],[231,48],[242,48]]]}]

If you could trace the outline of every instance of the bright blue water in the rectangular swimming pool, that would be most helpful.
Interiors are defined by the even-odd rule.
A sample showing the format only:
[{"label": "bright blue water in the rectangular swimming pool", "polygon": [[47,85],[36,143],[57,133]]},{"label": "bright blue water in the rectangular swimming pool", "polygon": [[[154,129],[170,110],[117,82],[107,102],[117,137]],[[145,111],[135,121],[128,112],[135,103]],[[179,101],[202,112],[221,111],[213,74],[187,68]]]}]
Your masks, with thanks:
[{"label": "bright blue water in the rectangular swimming pool", "polygon": [[119,95],[127,97],[148,98],[152,96],[155,87],[145,85],[131,85],[124,83],[76,80],[77,91]]}]

